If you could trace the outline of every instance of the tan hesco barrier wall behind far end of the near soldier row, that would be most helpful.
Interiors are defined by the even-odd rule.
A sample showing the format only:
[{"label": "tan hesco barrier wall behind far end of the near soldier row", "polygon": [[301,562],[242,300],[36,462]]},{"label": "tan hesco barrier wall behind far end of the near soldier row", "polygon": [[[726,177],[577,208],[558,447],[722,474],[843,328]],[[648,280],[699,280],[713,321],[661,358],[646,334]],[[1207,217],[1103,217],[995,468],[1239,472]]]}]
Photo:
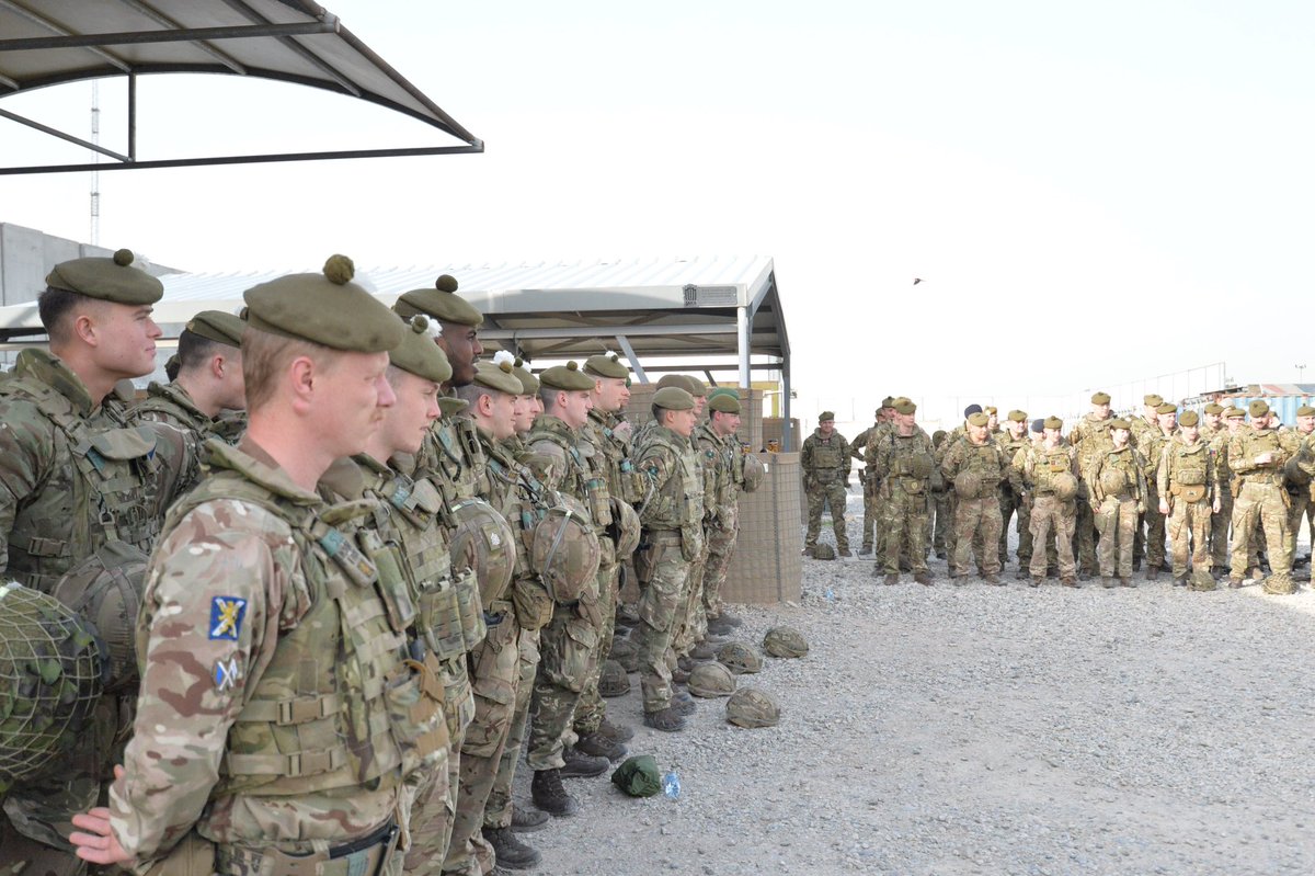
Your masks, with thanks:
[{"label": "tan hesco barrier wall behind far end of the near soldier row", "polygon": [[803,583],[800,550],[800,455],[759,454],[767,467],[757,492],[740,495],[740,534],[726,575],[727,602],[798,601]]}]

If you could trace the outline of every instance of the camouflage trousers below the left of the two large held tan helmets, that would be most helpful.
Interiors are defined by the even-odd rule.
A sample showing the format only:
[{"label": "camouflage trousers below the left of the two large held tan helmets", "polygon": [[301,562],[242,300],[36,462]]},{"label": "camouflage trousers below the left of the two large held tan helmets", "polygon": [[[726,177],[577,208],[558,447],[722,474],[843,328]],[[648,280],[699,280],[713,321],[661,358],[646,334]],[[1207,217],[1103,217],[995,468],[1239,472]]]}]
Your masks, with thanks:
[{"label": "camouflage trousers below the left of the two large held tan helmets", "polygon": [[489,621],[484,641],[471,650],[471,688],[475,692],[475,719],[462,742],[460,784],[456,789],[456,818],[443,860],[444,873],[484,876],[480,858],[488,846],[480,829],[484,806],[497,779],[498,763],[515,716],[515,694],[521,683],[521,625],[510,602],[493,602],[485,613]]}]

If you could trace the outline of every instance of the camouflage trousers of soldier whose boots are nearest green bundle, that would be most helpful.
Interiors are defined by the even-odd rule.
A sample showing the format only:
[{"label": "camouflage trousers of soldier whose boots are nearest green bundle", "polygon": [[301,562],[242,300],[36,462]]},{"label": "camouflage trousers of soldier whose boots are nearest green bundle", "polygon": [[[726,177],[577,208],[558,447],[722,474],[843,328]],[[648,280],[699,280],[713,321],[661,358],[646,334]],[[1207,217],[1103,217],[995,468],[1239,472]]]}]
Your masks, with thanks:
[{"label": "camouflage trousers of soldier whose boots are nearest green bundle", "polygon": [[576,743],[571,725],[596,647],[598,627],[584,602],[558,605],[539,630],[539,671],[530,697],[530,748],[525,755],[530,769],[560,769],[565,763],[563,751]]}]

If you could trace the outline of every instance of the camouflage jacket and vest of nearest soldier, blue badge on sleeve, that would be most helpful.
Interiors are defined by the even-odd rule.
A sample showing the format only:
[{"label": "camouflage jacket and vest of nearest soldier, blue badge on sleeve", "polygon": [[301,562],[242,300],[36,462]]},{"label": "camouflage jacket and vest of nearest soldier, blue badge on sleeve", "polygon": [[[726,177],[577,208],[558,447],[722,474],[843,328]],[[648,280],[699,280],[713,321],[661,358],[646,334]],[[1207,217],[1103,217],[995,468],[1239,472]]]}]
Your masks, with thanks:
[{"label": "camouflage jacket and vest of nearest soldier, blue badge on sleeve", "polygon": [[442,697],[408,660],[401,583],[363,554],[372,502],[325,504],[250,441],[206,452],[147,570],[135,733],[109,794],[139,864],[193,825],[221,862],[368,835],[402,805]]}]

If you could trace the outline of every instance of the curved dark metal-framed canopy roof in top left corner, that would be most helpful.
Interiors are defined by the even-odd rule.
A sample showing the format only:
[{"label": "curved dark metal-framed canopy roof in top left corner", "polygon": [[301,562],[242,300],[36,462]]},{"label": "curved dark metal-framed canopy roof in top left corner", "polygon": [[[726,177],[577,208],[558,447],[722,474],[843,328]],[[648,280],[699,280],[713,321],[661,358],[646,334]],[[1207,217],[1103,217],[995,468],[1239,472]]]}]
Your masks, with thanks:
[{"label": "curved dark metal-framed canopy roof in top left corner", "polygon": [[[0,167],[0,175],[484,151],[479,138],[309,0],[0,0],[0,97],[105,76],[126,76],[129,85],[126,155],[0,109],[0,117],[118,163]],[[466,145],[138,162],[135,83],[142,74],[310,85],[405,113]]]}]

